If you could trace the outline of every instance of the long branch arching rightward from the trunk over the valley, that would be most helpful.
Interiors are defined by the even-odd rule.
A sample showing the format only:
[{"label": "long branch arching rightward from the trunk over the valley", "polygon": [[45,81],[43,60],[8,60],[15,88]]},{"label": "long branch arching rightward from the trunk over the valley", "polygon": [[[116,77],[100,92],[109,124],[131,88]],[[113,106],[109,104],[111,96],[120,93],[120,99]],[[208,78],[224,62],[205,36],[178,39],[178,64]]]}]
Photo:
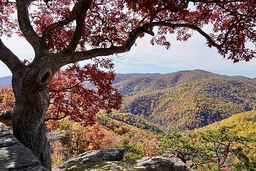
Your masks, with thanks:
[{"label": "long branch arching rightward from the trunk over the valley", "polygon": [[172,27],[172,28],[188,27],[190,29],[194,29],[198,31],[201,35],[203,35],[207,39],[207,41],[209,41],[212,44],[212,46],[215,46],[217,49],[221,50],[221,47],[220,47],[221,45],[219,45],[218,43],[215,43],[215,41],[213,41],[212,38],[198,26],[195,26],[193,24],[188,24],[188,23],[152,22],[152,23],[144,24],[139,28],[132,30],[124,46],[111,45],[108,48],[90,49],[87,51],[75,52],[74,54],[69,54],[67,52],[60,52],[58,54],[55,54],[54,56],[51,56],[53,67],[55,67],[55,70],[58,70],[60,67],[66,64],[74,63],[77,61],[83,61],[83,60],[91,59],[98,56],[108,56],[108,55],[113,55],[117,53],[128,52],[131,50],[131,47],[134,45],[135,41],[142,33],[148,33],[150,35],[154,35],[154,33],[150,32],[149,30],[151,26],[152,27],[166,26],[166,27]]}]

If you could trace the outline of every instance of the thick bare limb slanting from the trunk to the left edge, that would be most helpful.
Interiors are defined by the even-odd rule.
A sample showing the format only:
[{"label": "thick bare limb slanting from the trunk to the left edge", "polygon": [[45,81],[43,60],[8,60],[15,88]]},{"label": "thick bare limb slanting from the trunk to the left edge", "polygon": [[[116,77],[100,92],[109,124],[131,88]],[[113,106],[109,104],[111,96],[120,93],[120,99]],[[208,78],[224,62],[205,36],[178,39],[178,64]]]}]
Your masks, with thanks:
[{"label": "thick bare limb slanting from the trunk to the left edge", "polygon": [[22,66],[19,58],[12,53],[10,49],[8,49],[0,39],[0,60],[3,61],[4,64],[14,72],[18,67]]}]

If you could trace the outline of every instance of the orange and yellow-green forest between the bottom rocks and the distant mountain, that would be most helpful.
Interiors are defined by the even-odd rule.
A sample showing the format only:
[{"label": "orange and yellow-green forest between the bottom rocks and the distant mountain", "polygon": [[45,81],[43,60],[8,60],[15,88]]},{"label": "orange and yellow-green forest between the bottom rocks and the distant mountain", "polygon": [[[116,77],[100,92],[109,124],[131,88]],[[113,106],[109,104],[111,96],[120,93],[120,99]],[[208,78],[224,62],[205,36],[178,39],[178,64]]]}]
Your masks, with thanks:
[{"label": "orange and yellow-green forest between the bottom rocks and the distant mountain", "polygon": [[[136,120],[137,124],[131,120]],[[130,113],[99,113],[96,125],[87,128],[65,119],[58,121],[58,127],[49,132],[54,149],[52,161],[53,165],[58,165],[85,151],[125,148],[125,160],[162,156],[178,158],[196,171],[255,171],[255,121],[256,111],[251,111],[203,128],[164,133],[159,129],[156,132],[154,124],[145,123],[143,117]],[[155,130],[144,130],[149,125]],[[61,138],[55,140],[56,137]],[[216,150],[218,143],[220,147]],[[215,162],[218,157],[223,162]]]}]

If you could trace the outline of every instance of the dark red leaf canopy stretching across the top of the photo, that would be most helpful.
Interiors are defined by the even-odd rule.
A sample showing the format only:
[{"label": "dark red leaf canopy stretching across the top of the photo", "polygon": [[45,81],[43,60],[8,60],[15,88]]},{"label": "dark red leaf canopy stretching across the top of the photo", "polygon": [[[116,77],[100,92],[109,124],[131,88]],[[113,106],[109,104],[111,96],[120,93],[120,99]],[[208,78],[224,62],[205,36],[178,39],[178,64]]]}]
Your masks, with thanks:
[{"label": "dark red leaf canopy stretching across the top of the photo", "polygon": [[[256,43],[255,0],[93,0],[90,3],[77,51],[116,46],[116,52],[121,52],[119,46],[123,50],[130,48],[133,37],[143,37],[145,33],[153,36],[151,44],[169,48],[168,33],[176,33],[177,40],[187,41],[195,30],[206,38],[209,47],[215,46],[222,56],[234,62],[255,57],[255,49],[246,46]],[[31,24],[47,41],[52,53],[67,48],[72,39],[76,29],[73,21],[79,8],[74,4],[77,5],[77,0],[32,0],[29,4]],[[23,36],[18,21],[12,20],[15,12],[15,3],[0,1],[1,34]],[[158,29],[153,30],[155,26]],[[204,32],[204,26],[212,26],[212,32]]]}]

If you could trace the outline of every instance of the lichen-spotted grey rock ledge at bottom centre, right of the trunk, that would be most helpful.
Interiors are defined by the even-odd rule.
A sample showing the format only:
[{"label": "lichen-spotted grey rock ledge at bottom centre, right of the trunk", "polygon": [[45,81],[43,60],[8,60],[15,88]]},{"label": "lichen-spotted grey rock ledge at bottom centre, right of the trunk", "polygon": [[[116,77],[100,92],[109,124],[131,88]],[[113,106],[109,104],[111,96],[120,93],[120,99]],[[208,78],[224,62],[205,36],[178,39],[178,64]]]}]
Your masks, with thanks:
[{"label": "lichen-spotted grey rock ledge at bottom centre, right of the trunk", "polygon": [[[166,157],[122,160],[124,149],[105,149],[80,154],[53,171],[192,171],[185,163]],[[107,161],[106,161],[107,160]]]}]

